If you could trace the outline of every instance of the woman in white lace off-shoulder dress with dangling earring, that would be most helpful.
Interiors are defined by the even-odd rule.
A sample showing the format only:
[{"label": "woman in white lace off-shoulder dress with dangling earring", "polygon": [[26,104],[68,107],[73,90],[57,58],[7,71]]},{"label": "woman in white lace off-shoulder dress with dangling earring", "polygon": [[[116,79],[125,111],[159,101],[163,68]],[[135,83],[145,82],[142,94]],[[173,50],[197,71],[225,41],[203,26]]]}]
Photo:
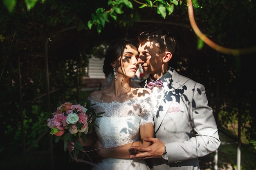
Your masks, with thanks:
[{"label": "woman in white lace off-shoulder dress with dangling earring", "polygon": [[[92,92],[88,99],[96,113],[104,112],[95,121],[94,132],[88,135],[83,146],[95,144],[95,135],[102,149],[97,154],[103,157],[93,170],[150,170],[144,159],[130,159],[132,146],[150,146],[144,137],[153,137],[153,105],[147,88],[131,86],[131,78],[139,68],[139,53],[132,42],[121,40],[108,47],[103,72],[112,75],[109,88]],[[90,137],[90,139],[88,139]],[[99,143],[99,142],[97,142]],[[72,151],[74,143],[68,142]]]}]

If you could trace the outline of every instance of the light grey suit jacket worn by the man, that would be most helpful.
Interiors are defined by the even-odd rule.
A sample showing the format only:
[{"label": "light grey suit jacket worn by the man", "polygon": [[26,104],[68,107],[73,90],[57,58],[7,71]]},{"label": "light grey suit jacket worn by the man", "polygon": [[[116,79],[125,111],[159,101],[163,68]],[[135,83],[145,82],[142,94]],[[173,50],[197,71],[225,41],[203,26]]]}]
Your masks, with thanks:
[{"label": "light grey suit jacket worn by the man", "polygon": [[[171,68],[161,79],[171,81],[154,117],[155,137],[164,142],[168,161],[161,158],[147,162],[149,165],[153,163],[152,170],[199,170],[198,157],[208,155],[220,146],[205,88]],[[147,81],[140,85],[146,86]]]}]

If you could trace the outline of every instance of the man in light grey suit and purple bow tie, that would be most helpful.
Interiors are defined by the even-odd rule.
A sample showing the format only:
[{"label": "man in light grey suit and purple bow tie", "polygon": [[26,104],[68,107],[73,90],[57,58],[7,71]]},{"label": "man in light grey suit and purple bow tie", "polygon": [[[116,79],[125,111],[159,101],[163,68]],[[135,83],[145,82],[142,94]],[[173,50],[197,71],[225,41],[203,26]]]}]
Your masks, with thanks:
[{"label": "man in light grey suit and purple bow tie", "polygon": [[138,62],[149,75],[140,85],[152,89],[155,102],[155,138],[144,139],[152,142],[151,146],[132,147],[141,153],[130,157],[153,158],[148,159],[152,170],[199,170],[198,157],[220,146],[205,88],[168,67],[175,40],[167,31],[145,31],[138,40]]}]

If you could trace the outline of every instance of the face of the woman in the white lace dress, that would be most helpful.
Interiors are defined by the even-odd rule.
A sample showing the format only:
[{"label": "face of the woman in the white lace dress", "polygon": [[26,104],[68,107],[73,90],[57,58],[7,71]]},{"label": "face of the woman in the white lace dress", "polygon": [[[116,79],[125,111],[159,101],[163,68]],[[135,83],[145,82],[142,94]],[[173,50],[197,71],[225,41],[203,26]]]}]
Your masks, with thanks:
[{"label": "face of the woman in the white lace dress", "polygon": [[[124,77],[133,78],[139,68],[138,64],[139,53],[136,46],[127,44],[124,53],[119,57],[117,64],[117,74],[124,75]],[[121,60],[121,66],[120,64]],[[118,76],[118,75],[117,75]]]}]

